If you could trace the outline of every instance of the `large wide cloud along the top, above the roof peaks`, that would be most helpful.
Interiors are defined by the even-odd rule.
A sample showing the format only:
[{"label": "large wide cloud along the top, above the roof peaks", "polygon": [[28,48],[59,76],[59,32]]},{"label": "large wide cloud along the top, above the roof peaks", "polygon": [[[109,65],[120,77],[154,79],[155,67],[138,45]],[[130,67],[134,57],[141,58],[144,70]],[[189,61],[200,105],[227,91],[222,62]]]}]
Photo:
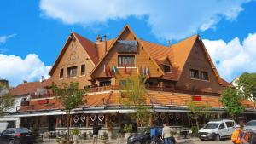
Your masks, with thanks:
[{"label": "large wide cloud along the top, above the roof peaks", "polygon": [[158,38],[181,39],[214,27],[219,20],[236,20],[249,0],[41,0],[42,15],[65,24],[97,26],[129,16],[146,18]]}]

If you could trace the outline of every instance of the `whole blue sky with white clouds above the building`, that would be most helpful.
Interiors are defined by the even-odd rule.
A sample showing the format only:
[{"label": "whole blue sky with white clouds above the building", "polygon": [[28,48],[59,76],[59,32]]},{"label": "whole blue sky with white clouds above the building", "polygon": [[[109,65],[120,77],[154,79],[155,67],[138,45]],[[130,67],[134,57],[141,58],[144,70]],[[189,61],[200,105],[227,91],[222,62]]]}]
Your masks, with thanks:
[{"label": "whole blue sky with white clouds above the building", "polygon": [[255,9],[249,0],[2,1],[0,78],[12,85],[38,80],[71,31],[94,41],[97,34],[116,37],[127,23],[137,37],[161,44],[199,33],[218,72],[231,81],[256,72]]}]

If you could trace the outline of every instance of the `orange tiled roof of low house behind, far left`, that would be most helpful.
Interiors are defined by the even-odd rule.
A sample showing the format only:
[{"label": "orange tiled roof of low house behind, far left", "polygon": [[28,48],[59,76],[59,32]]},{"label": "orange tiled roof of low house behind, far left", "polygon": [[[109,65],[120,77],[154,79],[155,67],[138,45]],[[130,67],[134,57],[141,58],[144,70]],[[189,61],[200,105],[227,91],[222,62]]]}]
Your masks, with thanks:
[{"label": "orange tiled roof of low house behind, far left", "polygon": [[41,82],[23,83],[10,90],[11,95],[27,95],[37,92],[38,88],[43,88]]}]

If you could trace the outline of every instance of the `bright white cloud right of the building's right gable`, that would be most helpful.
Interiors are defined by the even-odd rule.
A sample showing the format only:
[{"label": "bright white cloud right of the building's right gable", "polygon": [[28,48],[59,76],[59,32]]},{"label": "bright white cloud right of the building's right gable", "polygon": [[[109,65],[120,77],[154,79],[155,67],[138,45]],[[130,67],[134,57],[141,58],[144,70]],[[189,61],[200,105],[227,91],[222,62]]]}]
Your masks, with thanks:
[{"label": "bright white cloud right of the building's right gable", "polygon": [[235,37],[229,43],[204,39],[209,54],[220,75],[231,81],[242,72],[256,72],[256,33],[250,33],[241,42]]}]

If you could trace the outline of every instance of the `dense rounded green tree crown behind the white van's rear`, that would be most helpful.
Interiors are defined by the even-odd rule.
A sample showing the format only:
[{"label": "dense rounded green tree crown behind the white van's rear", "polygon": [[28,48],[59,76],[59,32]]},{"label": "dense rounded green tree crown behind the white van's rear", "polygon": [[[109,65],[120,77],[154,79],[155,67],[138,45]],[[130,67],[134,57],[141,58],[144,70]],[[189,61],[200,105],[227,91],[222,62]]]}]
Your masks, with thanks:
[{"label": "dense rounded green tree crown behind the white van's rear", "polygon": [[221,95],[220,101],[223,103],[224,107],[228,108],[232,117],[236,117],[236,115],[245,109],[245,107],[241,105],[243,96],[240,90],[228,87],[222,91]]}]

